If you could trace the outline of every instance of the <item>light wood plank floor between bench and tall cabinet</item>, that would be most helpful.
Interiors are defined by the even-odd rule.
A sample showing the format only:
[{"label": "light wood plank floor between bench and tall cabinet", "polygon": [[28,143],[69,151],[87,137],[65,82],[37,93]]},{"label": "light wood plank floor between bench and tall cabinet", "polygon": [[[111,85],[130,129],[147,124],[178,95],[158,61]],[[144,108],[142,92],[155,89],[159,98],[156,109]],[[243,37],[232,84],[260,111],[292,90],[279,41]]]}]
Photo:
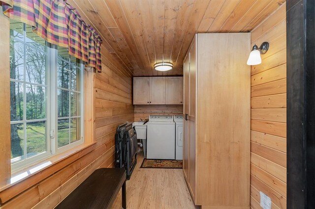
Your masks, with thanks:
[{"label": "light wood plank floor between bench and tall cabinet", "polygon": [[[140,168],[143,152],[127,181],[127,209],[197,209],[190,196],[182,169]],[[122,208],[118,194],[113,209]]]}]

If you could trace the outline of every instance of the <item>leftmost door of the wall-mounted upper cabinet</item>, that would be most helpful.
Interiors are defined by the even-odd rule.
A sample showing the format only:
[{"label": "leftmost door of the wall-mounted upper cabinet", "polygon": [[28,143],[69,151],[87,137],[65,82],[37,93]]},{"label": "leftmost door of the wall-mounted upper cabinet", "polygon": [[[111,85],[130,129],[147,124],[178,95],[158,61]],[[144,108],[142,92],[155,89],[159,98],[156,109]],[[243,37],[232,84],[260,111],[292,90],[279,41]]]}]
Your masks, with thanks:
[{"label": "leftmost door of the wall-mounted upper cabinet", "polygon": [[133,78],[133,104],[149,104],[149,78]]}]

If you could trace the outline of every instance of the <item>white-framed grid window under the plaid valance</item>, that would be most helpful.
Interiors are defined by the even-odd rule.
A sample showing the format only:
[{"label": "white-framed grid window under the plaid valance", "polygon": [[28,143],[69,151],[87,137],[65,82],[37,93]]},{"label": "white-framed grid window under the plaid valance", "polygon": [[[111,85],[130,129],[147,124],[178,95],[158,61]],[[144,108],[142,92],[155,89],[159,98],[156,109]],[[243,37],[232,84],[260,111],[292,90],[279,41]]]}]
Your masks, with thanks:
[{"label": "white-framed grid window under the plaid valance", "polygon": [[11,167],[83,142],[83,64],[10,20]]}]

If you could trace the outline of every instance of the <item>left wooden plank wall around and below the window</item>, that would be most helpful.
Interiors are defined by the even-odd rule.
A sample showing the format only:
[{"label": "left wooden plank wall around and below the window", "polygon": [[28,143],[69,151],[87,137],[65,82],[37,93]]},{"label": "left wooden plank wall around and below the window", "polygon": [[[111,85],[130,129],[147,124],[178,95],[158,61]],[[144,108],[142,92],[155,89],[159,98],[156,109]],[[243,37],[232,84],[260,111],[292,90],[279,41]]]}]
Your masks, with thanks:
[{"label": "left wooden plank wall around and below the window", "polygon": [[86,76],[95,77],[94,150],[86,155],[80,153],[73,163],[10,199],[0,206],[1,209],[54,208],[96,168],[114,166],[116,128],[125,121],[134,120],[132,75],[117,64],[103,47],[102,62],[102,73],[86,73]]}]

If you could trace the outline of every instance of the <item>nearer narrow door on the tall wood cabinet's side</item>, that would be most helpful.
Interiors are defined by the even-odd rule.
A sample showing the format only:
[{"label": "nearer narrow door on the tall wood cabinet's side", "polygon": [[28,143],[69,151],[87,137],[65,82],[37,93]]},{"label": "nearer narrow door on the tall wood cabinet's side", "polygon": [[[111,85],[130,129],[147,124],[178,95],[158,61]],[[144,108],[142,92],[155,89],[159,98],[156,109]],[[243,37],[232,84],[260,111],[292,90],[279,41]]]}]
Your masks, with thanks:
[{"label": "nearer narrow door on the tall wood cabinet's side", "polygon": [[[189,59],[189,186],[195,197],[196,191],[196,45],[190,49]],[[195,198],[194,198],[195,199]]]}]

